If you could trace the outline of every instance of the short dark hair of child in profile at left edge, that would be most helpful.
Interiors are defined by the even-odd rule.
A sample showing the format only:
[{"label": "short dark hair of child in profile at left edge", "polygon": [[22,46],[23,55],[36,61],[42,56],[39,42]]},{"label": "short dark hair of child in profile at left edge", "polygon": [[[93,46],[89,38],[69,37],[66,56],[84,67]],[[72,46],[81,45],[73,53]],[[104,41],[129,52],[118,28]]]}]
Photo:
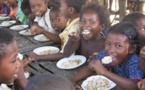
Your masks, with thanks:
[{"label": "short dark hair of child in profile at left edge", "polygon": [[14,36],[7,30],[0,28],[0,60],[5,56],[5,49],[7,45],[14,41]]}]

